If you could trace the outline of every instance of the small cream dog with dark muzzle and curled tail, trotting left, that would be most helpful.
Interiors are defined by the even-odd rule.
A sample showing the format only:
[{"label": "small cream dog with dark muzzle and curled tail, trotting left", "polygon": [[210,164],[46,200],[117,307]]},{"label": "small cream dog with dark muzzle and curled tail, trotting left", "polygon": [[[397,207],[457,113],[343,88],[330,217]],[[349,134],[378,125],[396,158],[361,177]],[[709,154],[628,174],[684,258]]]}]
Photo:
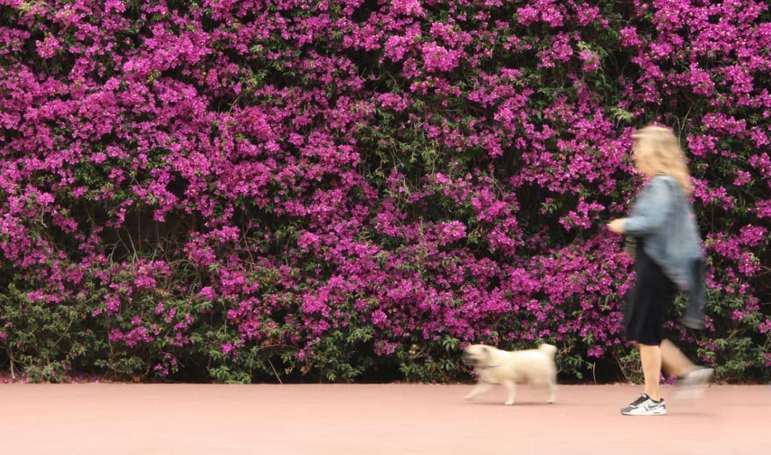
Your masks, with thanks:
[{"label": "small cream dog with dark muzzle and curled tail, trotting left", "polygon": [[469,345],[463,349],[463,362],[474,367],[479,383],[465,396],[472,399],[490,390],[493,384],[503,384],[509,392],[506,405],[514,404],[517,384],[549,387],[549,400],[557,399],[557,366],[554,365],[553,345],[542,344],[538,349],[503,351],[488,345]]}]

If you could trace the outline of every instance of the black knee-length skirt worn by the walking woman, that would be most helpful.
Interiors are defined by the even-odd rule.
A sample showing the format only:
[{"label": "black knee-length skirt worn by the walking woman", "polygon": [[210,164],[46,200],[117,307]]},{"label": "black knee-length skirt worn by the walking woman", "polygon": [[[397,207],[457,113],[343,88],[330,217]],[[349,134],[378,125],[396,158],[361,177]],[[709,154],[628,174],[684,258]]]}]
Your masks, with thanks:
[{"label": "black knee-length skirt worn by the walking woman", "polygon": [[662,330],[669,308],[675,300],[677,286],[643,248],[637,238],[635,247],[635,287],[627,295],[624,325],[629,341],[643,345],[662,342]]}]

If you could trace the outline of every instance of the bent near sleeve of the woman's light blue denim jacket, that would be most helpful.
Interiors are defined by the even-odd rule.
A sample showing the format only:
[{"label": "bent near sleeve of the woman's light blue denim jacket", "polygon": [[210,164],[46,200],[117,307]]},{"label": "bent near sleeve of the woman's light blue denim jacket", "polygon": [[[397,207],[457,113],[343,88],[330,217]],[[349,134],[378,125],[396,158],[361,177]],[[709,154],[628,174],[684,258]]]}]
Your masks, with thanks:
[{"label": "bent near sleeve of the woman's light blue denim jacket", "polygon": [[654,177],[642,190],[631,217],[624,225],[626,234],[643,236],[658,231],[672,211],[672,192],[667,177]]}]

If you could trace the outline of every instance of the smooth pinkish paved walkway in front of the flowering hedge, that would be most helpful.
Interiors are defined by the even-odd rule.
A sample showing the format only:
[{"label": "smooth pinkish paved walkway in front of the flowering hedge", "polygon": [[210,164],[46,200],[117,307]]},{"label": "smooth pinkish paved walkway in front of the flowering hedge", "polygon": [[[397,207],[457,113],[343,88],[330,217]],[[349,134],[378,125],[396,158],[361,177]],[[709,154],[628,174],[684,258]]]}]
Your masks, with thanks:
[{"label": "smooth pinkish paved walkway in front of the flowering hedge", "polygon": [[[668,416],[621,416],[635,386],[0,385],[0,453],[771,453],[771,387],[712,386]],[[665,398],[672,395],[665,388]]]}]

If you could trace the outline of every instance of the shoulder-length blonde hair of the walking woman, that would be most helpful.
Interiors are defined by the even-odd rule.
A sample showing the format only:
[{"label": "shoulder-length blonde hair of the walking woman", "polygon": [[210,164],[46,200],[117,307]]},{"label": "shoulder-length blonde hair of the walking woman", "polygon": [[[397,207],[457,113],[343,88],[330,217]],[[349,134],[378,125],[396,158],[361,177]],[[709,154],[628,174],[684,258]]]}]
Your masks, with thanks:
[{"label": "shoulder-length blonde hair of the walking woman", "polygon": [[645,155],[645,160],[657,174],[667,174],[682,187],[683,193],[693,191],[688,163],[675,133],[662,126],[648,125],[632,134],[635,139],[635,153]]}]

